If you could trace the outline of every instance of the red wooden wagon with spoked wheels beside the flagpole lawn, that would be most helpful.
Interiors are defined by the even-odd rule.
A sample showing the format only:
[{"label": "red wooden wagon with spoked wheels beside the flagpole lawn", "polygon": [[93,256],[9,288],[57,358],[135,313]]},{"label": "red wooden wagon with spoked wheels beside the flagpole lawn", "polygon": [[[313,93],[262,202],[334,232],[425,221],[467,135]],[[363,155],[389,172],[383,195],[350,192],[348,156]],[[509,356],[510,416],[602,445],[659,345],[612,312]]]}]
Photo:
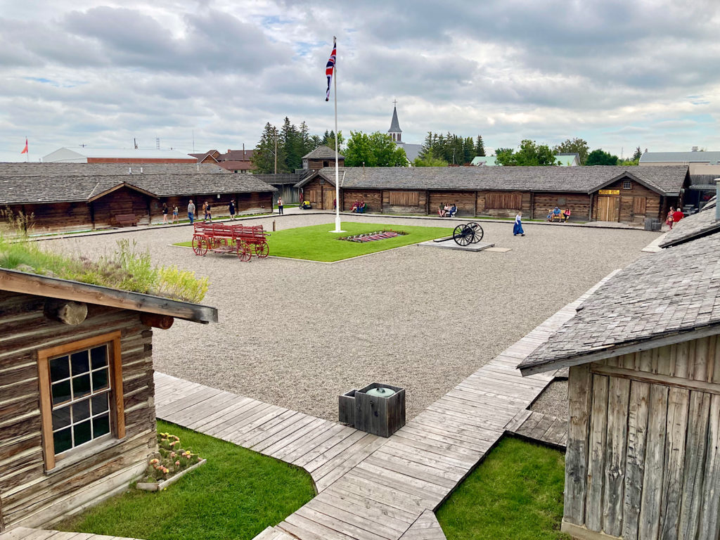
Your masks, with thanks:
[{"label": "red wooden wagon with spoked wheels beside the flagpole lawn", "polygon": [[268,256],[269,248],[262,225],[228,225],[225,223],[195,223],[192,251],[204,256],[207,251],[235,253],[240,261],[249,261],[253,253],[258,258]]}]

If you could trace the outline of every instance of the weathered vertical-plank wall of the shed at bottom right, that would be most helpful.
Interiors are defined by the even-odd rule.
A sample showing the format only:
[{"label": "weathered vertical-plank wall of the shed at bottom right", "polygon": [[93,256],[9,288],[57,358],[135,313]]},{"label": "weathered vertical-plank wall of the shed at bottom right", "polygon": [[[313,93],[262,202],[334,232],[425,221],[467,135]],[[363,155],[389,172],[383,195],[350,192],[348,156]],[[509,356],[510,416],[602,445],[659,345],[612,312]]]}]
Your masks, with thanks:
[{"label": "weathered vertical-plank wall of the shed at bottom right", "polygon": [[563,530],[720,533],[720,337],[570,368]]}]

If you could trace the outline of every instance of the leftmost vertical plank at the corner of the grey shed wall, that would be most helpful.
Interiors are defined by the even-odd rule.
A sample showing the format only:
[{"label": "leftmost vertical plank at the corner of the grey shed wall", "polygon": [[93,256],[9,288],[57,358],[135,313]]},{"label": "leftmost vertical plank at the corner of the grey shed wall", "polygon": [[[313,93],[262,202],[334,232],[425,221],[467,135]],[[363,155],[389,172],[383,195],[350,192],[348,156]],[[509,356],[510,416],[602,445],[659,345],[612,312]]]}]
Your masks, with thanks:
[{"label": "leftmost vertical plank at the corner of the grey shed wall", "polygon": [[568,375],[567,451],[565,452],[564,521],[585,523],[588,483],[588,426],[593,395],[590,365],[572,366]]}]

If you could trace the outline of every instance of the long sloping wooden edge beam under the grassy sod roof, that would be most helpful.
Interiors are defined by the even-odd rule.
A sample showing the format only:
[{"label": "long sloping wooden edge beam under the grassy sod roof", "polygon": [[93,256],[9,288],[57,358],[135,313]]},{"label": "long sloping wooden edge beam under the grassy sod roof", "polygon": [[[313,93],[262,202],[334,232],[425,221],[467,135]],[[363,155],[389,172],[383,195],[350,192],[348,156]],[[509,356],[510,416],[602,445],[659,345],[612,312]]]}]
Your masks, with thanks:
[{"label": "long sloping wooden edge beam under the grassy sod roof", "polygon": [[178,302],[168,298],[120,291],[99,285],[71,282],[68,279],[26,274],[15,270],[0,269],[0,290],[87,302],[95,305],[117,307],[122,310],[170,315],[195,323],[217,323],[215,307]]}]

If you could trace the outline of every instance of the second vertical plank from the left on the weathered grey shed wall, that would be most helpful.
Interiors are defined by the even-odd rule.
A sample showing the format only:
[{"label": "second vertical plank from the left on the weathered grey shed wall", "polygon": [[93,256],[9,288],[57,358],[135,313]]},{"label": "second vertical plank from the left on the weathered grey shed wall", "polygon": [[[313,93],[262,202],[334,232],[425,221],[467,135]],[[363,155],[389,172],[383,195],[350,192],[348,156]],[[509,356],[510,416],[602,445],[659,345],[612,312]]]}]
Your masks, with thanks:
[{"label": "second vertical plank from the left on the weathered grey shed wall", "polygon": [[608,377],[593,375],[593,405],[590,411],[588,442],[588,488],[585,500],[585,526],[590,531],[603,528],[603,480],[608,435]]}]

